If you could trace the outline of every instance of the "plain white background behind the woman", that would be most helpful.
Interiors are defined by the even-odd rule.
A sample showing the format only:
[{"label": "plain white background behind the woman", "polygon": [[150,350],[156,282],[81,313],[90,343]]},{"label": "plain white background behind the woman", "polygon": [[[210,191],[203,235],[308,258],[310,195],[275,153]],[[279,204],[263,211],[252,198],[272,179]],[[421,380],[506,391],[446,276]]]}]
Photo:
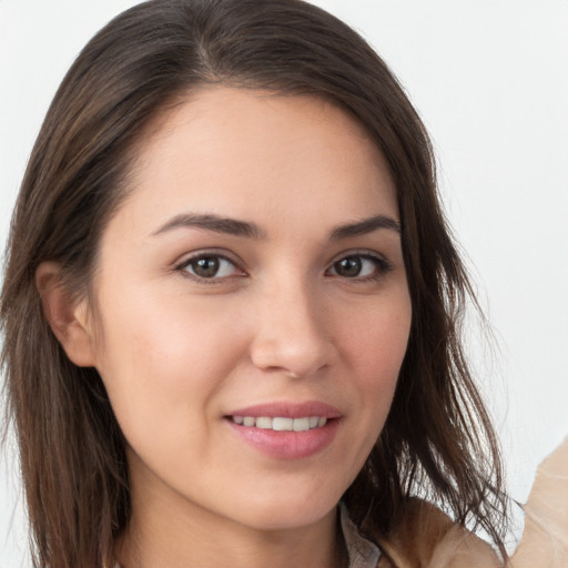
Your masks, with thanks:
[{"label": "plain white background behind the woman", "polygon": [[[64,72],[128,0],[0,0],[0,240]],[[434,139],[445,205],[497,337],[471,352],[513,497],[568,434],[568,1],[321,0],[398,75]],[[1,454],[0,567],[28,566]]]}]

